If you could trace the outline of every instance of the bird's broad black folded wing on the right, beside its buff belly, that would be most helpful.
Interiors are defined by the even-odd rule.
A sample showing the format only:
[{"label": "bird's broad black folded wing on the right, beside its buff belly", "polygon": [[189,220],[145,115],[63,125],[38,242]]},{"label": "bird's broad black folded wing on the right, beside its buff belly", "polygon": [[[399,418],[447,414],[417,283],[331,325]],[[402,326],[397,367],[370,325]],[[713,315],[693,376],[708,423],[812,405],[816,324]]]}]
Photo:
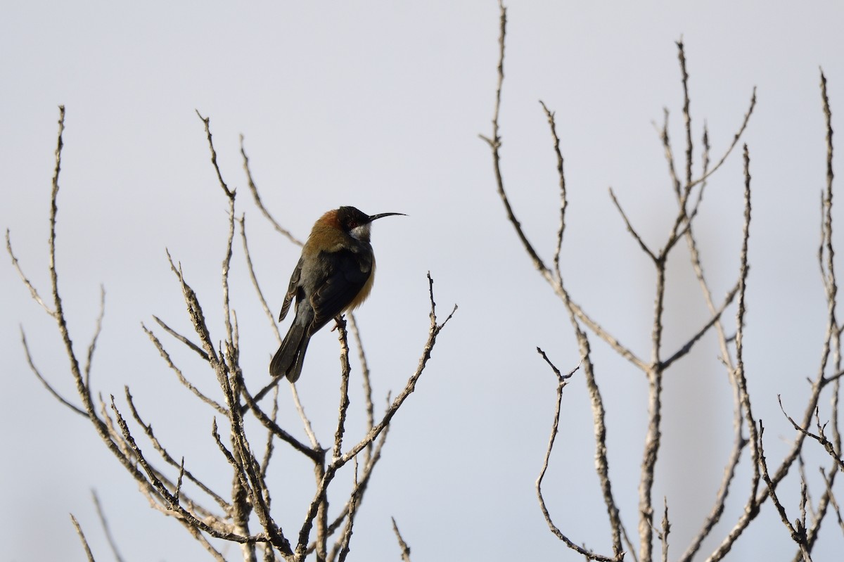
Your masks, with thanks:
[{"label": "bird's broad black folded wing on the right, beside its buff belly", "polygon": [[340,250],[326,256],[328,275],[311,296],[315,316],[309,332],[317,332],[338,316],[363,289],[372,273],[372,260],[362,253]]}]

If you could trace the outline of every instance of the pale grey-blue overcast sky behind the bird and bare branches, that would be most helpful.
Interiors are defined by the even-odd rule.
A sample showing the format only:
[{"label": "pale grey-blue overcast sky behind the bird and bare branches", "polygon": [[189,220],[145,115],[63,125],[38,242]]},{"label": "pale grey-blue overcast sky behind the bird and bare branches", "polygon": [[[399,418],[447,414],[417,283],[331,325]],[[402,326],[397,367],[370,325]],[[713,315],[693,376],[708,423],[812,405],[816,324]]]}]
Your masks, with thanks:
[{"label": "pale grey-blue overcast sky behind the bird and bare branches", "polygon": [[[662,121],[663,107],[671,111],[679,158],[682,93],[674,41],[682,37],[686,46],[695,165],[703,123],[720,157],[757,87],[759,102],[744,137],[754,189],[745,362],[755,414],[766,422],[766,453],[778,462],[793,430],[776,395],[790,413],[802,414],[805,377],[816,373],[824,335],[815,253],[825,186],[819,66],[829,78],[833,127],[844,130],[844,6],[514,0],[508,7],[500,133],[512,203],[549,260],[559,195],[538,104],[544,100],[556,111],[569,187],[565,281],[598,322],[645,358],[653,267],[625,233],[607,188],[613,186],[647,242],[662,246],[674,196],[652,122]],[[151,327],[156,315],[190,332],[166,248],[197,290],[214,338],[224,337],[219,266],[226,201],[195,110],[211,118],[220,168],[238,189],[237,213],[246,213],[252,258],[276,310],[299,251],[249,200],[241,133],[264,202],[300,238],[339,205],[408,213],[375,225],[378,278],[357,315],[379,404],[403,387],[422,352],[426,272],[436,281],[441,319],[454,303],[460,308],[393,421],[355,526],[352,559],[400,559],[390,516],[414,560],[580,559],[548,531],[533,489],[555,400],[555,378],[535,348],[569,370],[579,360],[576,342],[560,301],[506,223],[490,150],[478,138],[490,134],[498,33],[491,0],[29,2],[8,4],[0,19],[0,226],[11,230],[24,270],[49,295],[50,181],[57,105],[66,105],[57,265],[73,342],[84,354],[103,284],[95,388],[125,406],[128,385],[174,456],[184,455],[187,467],[219,489],[230,484],[230,471],[210,437],[213,413],[177,383],[140,327]],[[717,295],[738,271],[743,181],[736,150],[707,187],[698,219]],[[7,506],[0,511],[0,559],[83,560],[70,512],[95,557],[111,559],[90,489],[99,494],[126,559],[204,559],[176,521],[149,509],[90,424],[32,376],[19,327],[44,375],[78,402],[54,322],[30,299],[8,258],[0,279],[6,451],[0,485]],[[257,388],[267,380],[277,343],[250,288],[239,243],[231,279],[241,365]],[[666,354],[706,320],[684,244],[669,262],[668,284]],[[213,386],[210,371],[160,336],[192,381]],[[647,382],[597,338],[592,342],[609,412],[614,492],[635,535]],[[654,503],[668,498],[670,558],[684,551],[708,513],[732,443],[732,401],[717,353],[714,338],[705,338],[666,378]],[[338,403],[337,355],[334,334],[320,333],[297,385],[323,444],[331,440]],[[285,427],[301,434],[289,393],[280,407]],[[349,440],[361,435],[363,419],[360,399],[352,407],[359,409]],[[582,375],[566,388],[563,408],[546,477],[549,509],[576,542],[609,554]],[[813,478],[819,464],[829,466],[818,449],[807,445]],[[283,447],[278,455],[277,521],[298,528],[311,498],[311,468]],[[745,457],[707,551],[733,527],[748,481]],[[306,484],[296,488],[298,482]],[[814,478],[814,499],[819,484]],[[782,488],[792,519],[797,490],[793,479]],[[840,482],[836,491],[844,498]],[[341,505],[338,497],[334,502]],[[840,548],[841,532],[828,520],[816,559],[830,559]],[[729,558],[790,559],[793,551],[768,502]],[[227,553],[236,559],[235,548]]]}]

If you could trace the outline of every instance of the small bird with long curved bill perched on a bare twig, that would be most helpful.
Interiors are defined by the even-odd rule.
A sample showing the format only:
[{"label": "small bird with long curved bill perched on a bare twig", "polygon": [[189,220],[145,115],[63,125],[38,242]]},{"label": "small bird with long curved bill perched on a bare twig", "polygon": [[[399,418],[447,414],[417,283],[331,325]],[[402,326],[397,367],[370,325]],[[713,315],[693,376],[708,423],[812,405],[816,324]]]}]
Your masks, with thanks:
[{"label": "small bird with long curved bill perched on a bare twig", "polygon": [[287,316],[294,297],[295,317],[269,364],[270,375],[298,381],[311,336],[366,300],[375,280],[372,221],[403,214],[368,215],[354,207],[340,207],[317,219],[290,275],[279,322]]}]

